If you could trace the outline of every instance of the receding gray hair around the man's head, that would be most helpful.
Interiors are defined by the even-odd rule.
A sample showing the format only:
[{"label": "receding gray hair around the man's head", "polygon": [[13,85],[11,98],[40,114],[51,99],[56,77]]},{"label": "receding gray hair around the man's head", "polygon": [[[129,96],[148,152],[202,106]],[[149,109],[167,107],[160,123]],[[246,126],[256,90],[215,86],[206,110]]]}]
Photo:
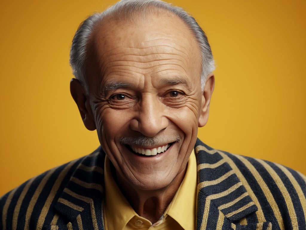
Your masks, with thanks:
[{"label": "receding gray hair around the man's head", "polygon": [[196,20],[181,7],[159,0],[121,0],[102,13],[95,13],[89,16],[80,24],[72,40],[70,65],[73,69],[73,75],[82,82],[87,93],[88,82],[85,77],[84,63],[87,58],[88,41],[95,27],[99,25],[105,16],[113,16],[118,19],[133,19],[137,18],[139,13],[141,13],[146,18],[147,15],[150,15],[152,12],[156,13],[159,9],[172,12],[174,15],[180,17],[195,36],[200,48],[200,58],[202,59],[201,88],[203,91],[207,76],[215,70],[215,64],[207,36]]}]

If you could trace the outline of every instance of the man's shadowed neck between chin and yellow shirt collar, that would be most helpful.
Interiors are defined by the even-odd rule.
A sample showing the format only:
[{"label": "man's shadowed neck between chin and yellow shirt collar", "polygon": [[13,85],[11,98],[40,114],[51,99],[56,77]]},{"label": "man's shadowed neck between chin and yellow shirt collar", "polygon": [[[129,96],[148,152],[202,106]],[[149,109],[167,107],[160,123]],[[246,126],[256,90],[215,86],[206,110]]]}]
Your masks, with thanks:
[{"label": "man's shadowed neck between chin and yellow shirt collar", "polygon": [[[114,167],[113,172],[114,172]],[[147,191],[133,188],[128,181],[124,180],[118,173],[112,173],[122,194],[129,201],[135,212],[149,221],[155,223],[165,213],[174,195],[185,177],[187,166],[174,180],[165,188]]]}]

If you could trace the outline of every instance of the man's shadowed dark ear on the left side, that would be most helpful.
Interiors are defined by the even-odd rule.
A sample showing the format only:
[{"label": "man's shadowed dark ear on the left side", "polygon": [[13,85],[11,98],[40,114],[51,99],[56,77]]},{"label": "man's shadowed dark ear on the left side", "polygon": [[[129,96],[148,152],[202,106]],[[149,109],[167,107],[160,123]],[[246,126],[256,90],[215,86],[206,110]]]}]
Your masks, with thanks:
[{"label": "man's shadowed dark ear on the left side", "polygon": [[75,78],[70,81],[70,93],[80,111],[80,115],[88,130],[95,130],[95,119],[90,107],[89,97],[81,82]]}]

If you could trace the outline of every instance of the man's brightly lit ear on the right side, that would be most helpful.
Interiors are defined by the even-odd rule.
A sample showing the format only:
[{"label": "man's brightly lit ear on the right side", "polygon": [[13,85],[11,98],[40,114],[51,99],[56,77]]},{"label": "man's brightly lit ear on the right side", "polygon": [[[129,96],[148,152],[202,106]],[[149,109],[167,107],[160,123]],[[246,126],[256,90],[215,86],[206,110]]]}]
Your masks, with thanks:
[{"label": "man's brightly lit ear on the right side", "polygon": [[213,73],[207,76],[205,87],[203,90],[202,104],[200,108],[199,127],[206,125],[209,114],[209,104],[211,101],[211,95],[215,88],[215,76]]}]

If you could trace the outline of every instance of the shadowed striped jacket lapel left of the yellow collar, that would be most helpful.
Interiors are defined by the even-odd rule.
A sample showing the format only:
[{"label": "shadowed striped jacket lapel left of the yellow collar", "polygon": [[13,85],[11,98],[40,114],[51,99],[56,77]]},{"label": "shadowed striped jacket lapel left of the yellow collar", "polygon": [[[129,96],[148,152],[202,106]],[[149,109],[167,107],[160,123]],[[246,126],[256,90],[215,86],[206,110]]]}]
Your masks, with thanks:
[{"label": "shadowed striped jacket lapel left of the yellow collar", "polygon": [[54,206],[59,218],[51,225],[68,223],[77,225],[78,228],[86,226],[88,229],[104,229],[104,159],[105,154],[101,147],[84,157]]}]

